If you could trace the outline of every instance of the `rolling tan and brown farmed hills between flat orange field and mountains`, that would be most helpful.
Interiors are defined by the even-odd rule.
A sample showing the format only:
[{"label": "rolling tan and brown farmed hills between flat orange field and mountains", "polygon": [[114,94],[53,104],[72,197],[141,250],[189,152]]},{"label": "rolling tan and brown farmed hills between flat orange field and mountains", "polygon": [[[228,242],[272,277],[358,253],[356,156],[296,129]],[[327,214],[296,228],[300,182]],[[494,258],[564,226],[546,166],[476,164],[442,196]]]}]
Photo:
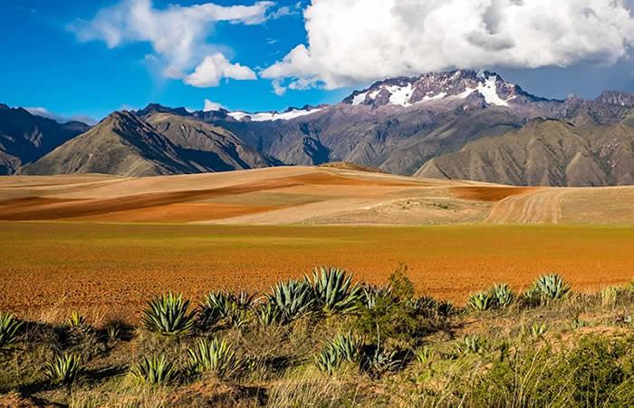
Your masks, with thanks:
[{"label": "rolling tan and brown farmed hills between flat orange field and mountains", "polygon": [[118,178],[0,177],[0,220],[634,225],[634,187],[521,188],[351,166]]}]

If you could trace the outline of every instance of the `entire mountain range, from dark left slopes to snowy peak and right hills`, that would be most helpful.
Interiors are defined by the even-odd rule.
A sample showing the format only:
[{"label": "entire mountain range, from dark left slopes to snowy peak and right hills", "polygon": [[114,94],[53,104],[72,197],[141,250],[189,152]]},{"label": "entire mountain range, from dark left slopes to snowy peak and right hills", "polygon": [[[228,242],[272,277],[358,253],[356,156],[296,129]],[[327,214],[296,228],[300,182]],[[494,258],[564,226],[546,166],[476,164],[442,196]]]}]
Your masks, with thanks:
[{"label": "entire mountain range, from dark left slopes to snowy peak and right hills", "polygon": [[0,108],[4,174],[141,176],[331,161],[514,185],[634,184],[634,95],[552,100],[496,73],[459,70],[391,78],[339,103],[286,112],[150,104],[90,130]]}]

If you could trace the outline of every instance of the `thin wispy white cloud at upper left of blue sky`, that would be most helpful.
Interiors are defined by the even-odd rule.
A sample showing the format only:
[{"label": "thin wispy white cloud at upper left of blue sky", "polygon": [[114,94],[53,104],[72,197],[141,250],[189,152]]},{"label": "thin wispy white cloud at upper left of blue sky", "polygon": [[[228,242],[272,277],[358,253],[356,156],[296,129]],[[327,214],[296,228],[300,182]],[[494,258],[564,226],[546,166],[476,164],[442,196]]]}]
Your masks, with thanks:
[{"label": "thin wispy white cloud at upper left of blue sky", "polygon": [[216,23],[260,24],[273,6],[273,2],[260,1],[254,5],[206,3],[158,9],[151,0],[120,0],[89,21],[69,25],[69,29],[79,41],[103,41],[110,48],[149,43],[164,65],[163,75],[183,78],[203,56],[217,52],[215,45],[207,44]]}]

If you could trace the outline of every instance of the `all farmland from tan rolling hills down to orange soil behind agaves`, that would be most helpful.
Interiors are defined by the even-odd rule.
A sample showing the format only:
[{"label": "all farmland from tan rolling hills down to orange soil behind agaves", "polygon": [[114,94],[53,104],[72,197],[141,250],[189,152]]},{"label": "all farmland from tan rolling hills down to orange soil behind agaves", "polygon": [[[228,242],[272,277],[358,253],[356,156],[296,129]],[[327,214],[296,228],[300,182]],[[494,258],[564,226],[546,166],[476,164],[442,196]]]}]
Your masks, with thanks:
[{"label": "all farmland from tan rolling hills down to orange soil behind agaves", "polygon": [[[515,188],[334,167],[120,178],[0,178],[0,309],[132,315],[168,290],[266,290],[335,265],[381,283],[399,262],[458,303],[557,272],[634,276],[634,188]],[[92,311],[92,312],[91,312]]]}]

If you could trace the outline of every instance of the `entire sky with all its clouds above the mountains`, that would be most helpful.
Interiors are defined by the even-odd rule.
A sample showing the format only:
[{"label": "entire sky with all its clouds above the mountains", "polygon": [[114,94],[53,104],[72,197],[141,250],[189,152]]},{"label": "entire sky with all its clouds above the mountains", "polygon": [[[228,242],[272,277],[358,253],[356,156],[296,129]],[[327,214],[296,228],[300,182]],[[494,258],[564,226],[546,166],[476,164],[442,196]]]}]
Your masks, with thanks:
[{"label": "entire sky with all its clouds above the mountains", "polygon": [[[0,102],[101,119],[247,112],[391,76],[488,69],[534,94],[634,92],[629,0],[4,0]],[[89,119],[86,119],[87,121]]]}]

